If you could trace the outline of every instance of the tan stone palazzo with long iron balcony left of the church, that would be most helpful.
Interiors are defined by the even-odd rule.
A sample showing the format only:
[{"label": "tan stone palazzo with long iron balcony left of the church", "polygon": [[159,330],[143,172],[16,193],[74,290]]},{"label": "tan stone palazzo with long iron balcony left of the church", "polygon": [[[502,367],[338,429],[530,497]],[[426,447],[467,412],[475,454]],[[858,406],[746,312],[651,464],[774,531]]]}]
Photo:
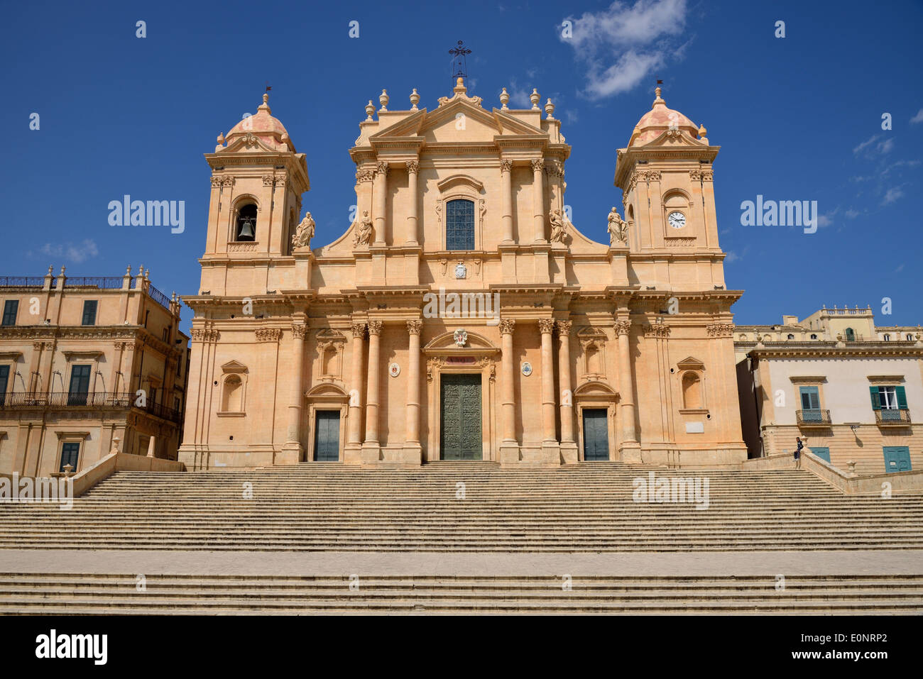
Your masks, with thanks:
[{"label": "tan stone palazzo with long iron balcony left of the church", "polygon": [[0,278],[0,473],[83,471],[114,449],[176,459],[189,339],[133,275]]}]

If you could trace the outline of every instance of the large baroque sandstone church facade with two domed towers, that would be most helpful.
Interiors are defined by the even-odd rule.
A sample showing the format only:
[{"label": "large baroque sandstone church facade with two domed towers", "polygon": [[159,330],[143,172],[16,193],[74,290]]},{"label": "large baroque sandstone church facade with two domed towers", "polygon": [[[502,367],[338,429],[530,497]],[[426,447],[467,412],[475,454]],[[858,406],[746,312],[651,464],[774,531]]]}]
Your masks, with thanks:
[{"label": "large baroque sandstone church facade with two domed towers", "polygon": [[416,90],[393,110],[383,91],[349,151],[355,220],[320,247],[306,154],[268,96],[218,138],[184,298],[189,469],[747,458],[719,148],[657,89],[617,150],[621,214],[571,221],[570,147],[531,100],[490,107],[459,78],[432,110]]}]

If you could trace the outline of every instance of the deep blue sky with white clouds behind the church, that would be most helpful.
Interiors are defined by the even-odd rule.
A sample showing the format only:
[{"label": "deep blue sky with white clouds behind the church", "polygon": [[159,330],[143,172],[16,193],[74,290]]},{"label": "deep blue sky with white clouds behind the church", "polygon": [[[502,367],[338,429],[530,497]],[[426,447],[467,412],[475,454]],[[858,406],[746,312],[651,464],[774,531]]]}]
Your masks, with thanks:
[{"label": "deep blue sky with white clouds behind the church", "polygon": [[[385,88],[390,108],[408,108],[416,88],[433,109],[450,94],[448,50],[463,40],[470,91],[486,107],[499,106],[502,87],[510,105],[532,88],[555,102],[573,147],[566,202],[582,232],[605,240],[621,198],[616,149],[661,78],[667,105],[722,146],[725,275],[747,291],[733,307],[738,324],[821,304],[870,304],[880,325],[923,323],[919,2],[34,2],[5,16],[0,275],[64,264],[69,275],[117,276],[143,264],[163,292],[198,292],[202,154],[256,113],[267,81],[273,115],[307,155],[314,244],[332,241],[354,203],[347,149],[366,101]],[[785,38],[774,36],[779,20]],[[110,226],[107,205],[125,194],[185,200],[186,231]],[[817,200],[821,227],[741,226],[741,201],[757,195]],[[190,317],[184,308],[185,328]]]}]

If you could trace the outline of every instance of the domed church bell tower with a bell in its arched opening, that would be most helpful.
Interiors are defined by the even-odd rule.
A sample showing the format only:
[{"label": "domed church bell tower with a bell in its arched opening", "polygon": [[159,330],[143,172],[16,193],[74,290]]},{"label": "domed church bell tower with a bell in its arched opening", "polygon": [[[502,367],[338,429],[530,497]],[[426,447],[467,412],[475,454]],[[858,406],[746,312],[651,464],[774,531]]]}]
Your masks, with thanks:
[{"label": "domed church bell tower with a bell in its arched opening", "polygon": [[253,294],[260,277],[252,268],[292,254],[301,195],[310,183],[305,154],[272,117],[269,98],[263,94],[257,113],[245,115],[227,137],[219,135],[214,152],[205,155],[211,197],[201,287],[215,295]]}]

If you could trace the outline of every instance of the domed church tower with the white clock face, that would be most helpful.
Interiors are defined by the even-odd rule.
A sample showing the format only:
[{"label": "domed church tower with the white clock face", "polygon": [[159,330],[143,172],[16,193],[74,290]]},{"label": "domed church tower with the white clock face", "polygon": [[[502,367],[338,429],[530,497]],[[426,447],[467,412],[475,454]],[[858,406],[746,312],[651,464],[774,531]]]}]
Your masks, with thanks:
[{"label": "domed church tower with the white clock face", "polygon": [[711,146],[704,126],[667,108],[656,90],[629,144],[617,151],[629,251],[642,284],[674,290],[724,287]]}]

